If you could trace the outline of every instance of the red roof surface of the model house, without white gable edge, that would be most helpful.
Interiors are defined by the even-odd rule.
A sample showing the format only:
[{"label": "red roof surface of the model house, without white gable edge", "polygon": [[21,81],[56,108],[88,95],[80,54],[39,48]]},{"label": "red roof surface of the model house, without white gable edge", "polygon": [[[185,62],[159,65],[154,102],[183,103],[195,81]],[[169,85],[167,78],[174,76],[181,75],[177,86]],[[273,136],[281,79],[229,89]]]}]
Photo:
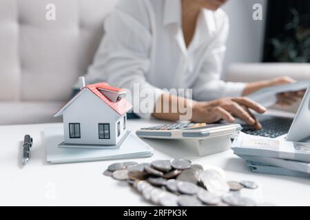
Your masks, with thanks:
[{"label": "red roof surface of the model house, without white gable edge", "polygon": [[112,102],[110,101],[105,95],[101,93],[98,89],[107,89],[111,91],[121,91],[121,89],[111,87],[107,83],[96,83],[92,85],[86,85],[86,88],[90,89],[96,96],[101,98],[105,103],[107,103],[114,111],[116,111],[118,114],[123,115],[127,111],[130,111],[132,109],[132,104],[128,102],[125,98],[122,98],[118,102]]}]

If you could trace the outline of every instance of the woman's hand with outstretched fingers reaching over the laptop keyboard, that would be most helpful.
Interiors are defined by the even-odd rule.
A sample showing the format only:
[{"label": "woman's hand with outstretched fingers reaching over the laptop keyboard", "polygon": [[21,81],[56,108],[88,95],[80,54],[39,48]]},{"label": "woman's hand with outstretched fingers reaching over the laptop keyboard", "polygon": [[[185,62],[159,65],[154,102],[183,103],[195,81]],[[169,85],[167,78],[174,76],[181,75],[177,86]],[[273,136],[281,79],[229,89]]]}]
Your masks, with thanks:
[{"label": "woman's hand with outstretched fingers reaching over the laptop keyboard", "polygon": [[253,109],[258,113],[265,113],[265,107],[250,100],[249,98],[221,98],[211,102],[196,102],[193,105],[193,122],[214,123],[219,120],[234,122],[235,117],[254,126],[255,129],[262,129],[260,122],[249,111]]}]

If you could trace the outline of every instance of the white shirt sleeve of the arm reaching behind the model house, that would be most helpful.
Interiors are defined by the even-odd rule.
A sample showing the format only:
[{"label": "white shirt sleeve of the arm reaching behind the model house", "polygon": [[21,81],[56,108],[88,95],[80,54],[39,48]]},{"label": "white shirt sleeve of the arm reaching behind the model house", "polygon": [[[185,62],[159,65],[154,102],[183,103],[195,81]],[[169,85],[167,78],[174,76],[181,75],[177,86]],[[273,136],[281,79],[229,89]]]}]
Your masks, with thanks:
[{"label": "white shirt sleeve of the arm reaching behind the model house", "polygon": [[145,79],[149,71],[152,34],[143,1],[119,1],[105,21],[105,36],[85,76],[87,82],[106,80],[114,87],[128,89],[132,111],[149,118],[163,91]]}]

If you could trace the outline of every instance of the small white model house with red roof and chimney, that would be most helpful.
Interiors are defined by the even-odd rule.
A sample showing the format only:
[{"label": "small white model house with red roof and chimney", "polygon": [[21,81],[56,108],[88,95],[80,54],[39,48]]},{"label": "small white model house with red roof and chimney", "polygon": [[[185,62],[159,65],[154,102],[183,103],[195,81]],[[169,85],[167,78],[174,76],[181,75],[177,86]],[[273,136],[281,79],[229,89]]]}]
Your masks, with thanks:
[{"label": "small white model house with red roof and chimney", "polygon": [[81,91],[54,114],[63,115],[64,143],[116,145],[126,133],[126,113],[132,109],[124,96],[125,89],[107,83],[83,83]]}]

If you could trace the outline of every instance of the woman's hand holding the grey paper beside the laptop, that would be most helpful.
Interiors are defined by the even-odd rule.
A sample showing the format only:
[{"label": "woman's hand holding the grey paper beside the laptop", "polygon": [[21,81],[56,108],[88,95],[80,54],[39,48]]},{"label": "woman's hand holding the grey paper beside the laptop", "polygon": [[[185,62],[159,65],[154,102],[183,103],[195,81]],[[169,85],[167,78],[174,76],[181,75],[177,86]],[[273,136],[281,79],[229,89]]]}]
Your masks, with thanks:
[{"label": "woman's hand holding the grey paper beside the laptop", "polygon": [[[286,85],[289,83],[296,83],[296,80],[293,80],[292,78],[287,77],[287,76],[283,76],[283,77],[273,78],[271,80],[248,83],[242,95],[247,96],[262,88],[273,87],[277,85]],[[277,103],[280,105],[291,105],[294,102],[297,102],[300,98],[302,98],[304,96],[304,92],[305,91],[297,91],[297,92],[286,92],[286,93],[278,94]]]}]

